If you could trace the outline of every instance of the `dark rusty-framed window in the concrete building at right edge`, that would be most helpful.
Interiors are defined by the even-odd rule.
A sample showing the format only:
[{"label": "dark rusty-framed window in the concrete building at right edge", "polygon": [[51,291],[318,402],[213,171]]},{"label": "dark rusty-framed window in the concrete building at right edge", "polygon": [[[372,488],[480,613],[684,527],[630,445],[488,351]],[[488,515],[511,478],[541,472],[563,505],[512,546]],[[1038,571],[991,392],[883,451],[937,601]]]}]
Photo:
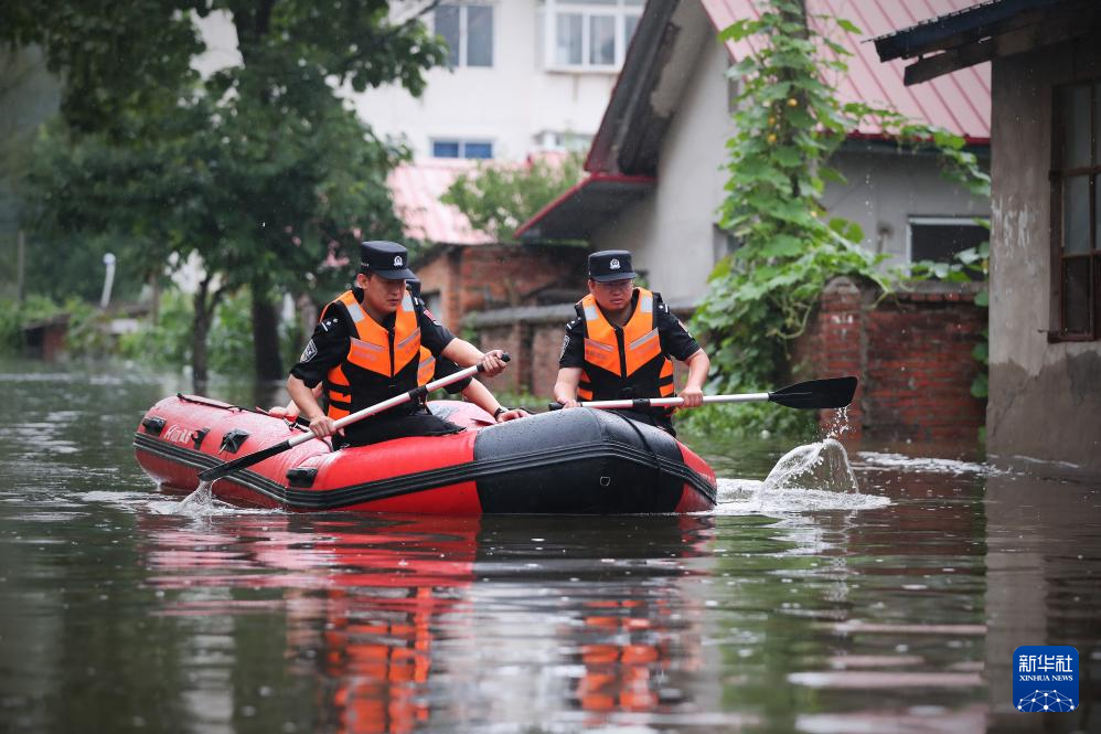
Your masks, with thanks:
[{"label": "dark rusty-framed window in the concrete building at right edge", "polygon": [[1091,340],[1101,322],[1101,82],[1055,92],[1051,286],[1052,338]]}]

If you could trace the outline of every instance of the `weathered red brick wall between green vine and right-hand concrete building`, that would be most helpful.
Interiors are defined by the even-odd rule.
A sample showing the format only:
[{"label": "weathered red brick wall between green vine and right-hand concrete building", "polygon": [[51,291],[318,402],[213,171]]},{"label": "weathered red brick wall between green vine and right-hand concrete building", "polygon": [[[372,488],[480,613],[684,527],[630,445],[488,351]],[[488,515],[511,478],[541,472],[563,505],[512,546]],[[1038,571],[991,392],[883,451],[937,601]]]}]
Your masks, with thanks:
[{"label": "weathered red brick wall between green vine and right-hand concrete building", "polygon": [[[797,379],[861,379],[848,412],[854,438],[973,444],[986,404],[971,395],[981,369],[971,351],[986,328],[986,309],[974,305],[973,292],[951,287],[874,306],[875,296],[874,287],[848,278],[827,286],[792,350]],[[830,417],[832,411],[823,412]]]}]

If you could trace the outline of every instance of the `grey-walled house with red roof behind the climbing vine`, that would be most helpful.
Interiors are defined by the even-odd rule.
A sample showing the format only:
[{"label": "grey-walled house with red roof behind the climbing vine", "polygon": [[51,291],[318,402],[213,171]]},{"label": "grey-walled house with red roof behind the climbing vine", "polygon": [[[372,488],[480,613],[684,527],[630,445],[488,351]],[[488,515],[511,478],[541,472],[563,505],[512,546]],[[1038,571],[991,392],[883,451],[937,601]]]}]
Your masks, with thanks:
[{"label": "grey-walled house with red roof behind the climbing vine", "polygon": [[[922,87],[908,87],[898,64],[880,64],[863,41],[915,22],[902,0],[806,0],[808,14],[845,18],[863,35],[836,39],[852,53],[835,79],[842,102],[886,106],[963,136],[983,159],[990,146],[990,68],[981,64]],[[924,0],[956,10],[969,0]],[[584,240],[595,249],[635,254],[635,269],[673,302],[693,302],[734,243],[716,226],[725,196],[725,143],[734,132],[737,88],[727,77],[748,41],[717,32],[755,17],[752,0],[650,2],[594,137],[587,179],[524,223],[522,242]],[[920,9],[926,12],[926,8]],[[827,184],[830,212],[855,221],[864,245],[895,262],[950,259],[987,238],[976,217],[990,203],[941,175],[937,157],[900,149],[874,123],[852,130],[833,166],[845,183]]]}]

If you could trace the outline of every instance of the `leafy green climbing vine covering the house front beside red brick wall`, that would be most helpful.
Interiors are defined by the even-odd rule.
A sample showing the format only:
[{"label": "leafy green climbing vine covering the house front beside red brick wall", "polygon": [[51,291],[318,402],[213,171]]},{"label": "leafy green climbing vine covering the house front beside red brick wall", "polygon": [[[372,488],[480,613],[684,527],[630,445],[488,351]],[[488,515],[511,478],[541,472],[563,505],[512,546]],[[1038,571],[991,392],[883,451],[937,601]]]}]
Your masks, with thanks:
[{"label": "leafy green climbing vine covering the house front beside red brick wall", "polygon": [[[876,124],[900,147],[937,150],[950,180],[988,194],[988,177],[959,136],[892,110],[838,100],[831,77],[847,73],[849,54],[832,40],[836,33],[861,31],[844,19],[808,18],[798,0],[767,0],[759,18],[741,19],[719,34],[723,42],[747,41],[752,51],[728,72],[741,87],[719,225],[738,246],[715,266],[693,317],[709,343],[710,392],[756,392],[787,377],[788,342],[803,332],[831,278],[858,276],[889,292],[895,278],[910,277],[886,272],[885,256],[861,246],[861,227],[829,217],[821,203],[827,181],[844,182],[829,166],[831,156],[863,123]],[[696,424],[721,422],[736,434],[803,433],[812,419],[809,412],[762,404],[693,416]]]}]

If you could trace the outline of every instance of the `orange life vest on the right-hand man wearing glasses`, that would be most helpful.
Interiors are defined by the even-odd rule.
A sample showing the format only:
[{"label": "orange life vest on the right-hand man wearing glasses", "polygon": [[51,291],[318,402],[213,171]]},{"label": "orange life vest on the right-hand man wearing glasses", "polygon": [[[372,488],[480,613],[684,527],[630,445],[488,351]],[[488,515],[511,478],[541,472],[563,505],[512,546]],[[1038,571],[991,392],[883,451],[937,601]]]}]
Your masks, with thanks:
[{"label": "orange life vest on the right-hand man wearing glasses", "polygon": [[654,295],[635,291],[634,312],[622,329],[608,321],[592,294],[577,302],[585,322],[585,369],[577,390],[582,401],[673,394],[673,362],[662,352]]}]

